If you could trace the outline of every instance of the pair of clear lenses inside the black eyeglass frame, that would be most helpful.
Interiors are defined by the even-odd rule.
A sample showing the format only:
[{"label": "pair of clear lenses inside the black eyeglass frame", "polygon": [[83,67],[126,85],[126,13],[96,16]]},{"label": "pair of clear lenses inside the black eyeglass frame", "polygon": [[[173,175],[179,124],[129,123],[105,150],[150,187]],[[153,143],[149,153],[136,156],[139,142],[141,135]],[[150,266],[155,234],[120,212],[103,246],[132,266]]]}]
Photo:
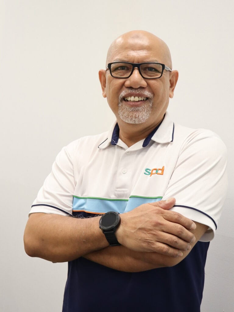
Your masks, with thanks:
[{"label": "pair of clear lenses inside the black eyeglass frame", "polygon": [[[111,64],[111,73],[116,78],[127,78],[132,72],[132,65],[126,63]],[[140,65],[140,72],[144,78],[158,78],[162,75],[163,67],[157,63]]]}]

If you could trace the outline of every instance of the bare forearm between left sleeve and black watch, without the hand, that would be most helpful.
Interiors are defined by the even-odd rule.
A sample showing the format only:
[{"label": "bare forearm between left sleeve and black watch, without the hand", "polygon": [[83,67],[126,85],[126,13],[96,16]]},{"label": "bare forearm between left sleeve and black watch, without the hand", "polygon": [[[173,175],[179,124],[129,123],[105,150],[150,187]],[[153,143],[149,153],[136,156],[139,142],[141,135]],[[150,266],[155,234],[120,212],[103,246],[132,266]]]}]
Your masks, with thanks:
[{"label": "bare forearm between left sleeve and black watch, without the hand", "polygon": [[99,228],[99,219],[33,213],[25,228],[25,251],[32,257],[65,262],[105,248],[108,242]]}]

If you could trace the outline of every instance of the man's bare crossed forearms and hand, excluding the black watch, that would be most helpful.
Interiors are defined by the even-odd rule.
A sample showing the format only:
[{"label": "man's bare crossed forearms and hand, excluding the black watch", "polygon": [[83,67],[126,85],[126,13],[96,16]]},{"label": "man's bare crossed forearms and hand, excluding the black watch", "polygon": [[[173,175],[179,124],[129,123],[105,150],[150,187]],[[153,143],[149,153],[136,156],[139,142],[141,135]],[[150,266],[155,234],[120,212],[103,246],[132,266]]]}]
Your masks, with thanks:
[{"label": "man's bare crossed forearms and hand, excluding the black watch", "polygon": [[182,261],[207,226],[168,209],[175,199],[143,204],[121,214],[116,237],[121,246],[110,247],[99,228],[100,217],[87,219],[32,213],[25,233],[29,256],[52,262],[85,257],[115,270],[137,272]]}]

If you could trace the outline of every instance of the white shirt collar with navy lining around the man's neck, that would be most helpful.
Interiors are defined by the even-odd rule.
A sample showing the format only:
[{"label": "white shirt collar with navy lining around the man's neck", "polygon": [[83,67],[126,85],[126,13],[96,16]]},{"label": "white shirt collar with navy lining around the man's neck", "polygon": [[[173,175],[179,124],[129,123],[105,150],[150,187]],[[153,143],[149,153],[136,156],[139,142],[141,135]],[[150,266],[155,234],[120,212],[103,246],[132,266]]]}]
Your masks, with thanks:
[{"label": "white shirt collar with navy lining around the man's neck", "polygon": [[[157,143],[173,142],[174,123],[170,119],[168,112],[165,113],[161,123],[144,139],[142,147],[146,147],[150,140]],[[105,149],[109,145],[116,145],[119,140],[119,125],[116,121],[111,125],[108,131],[107,138],[100,143],[98,148]]]}]

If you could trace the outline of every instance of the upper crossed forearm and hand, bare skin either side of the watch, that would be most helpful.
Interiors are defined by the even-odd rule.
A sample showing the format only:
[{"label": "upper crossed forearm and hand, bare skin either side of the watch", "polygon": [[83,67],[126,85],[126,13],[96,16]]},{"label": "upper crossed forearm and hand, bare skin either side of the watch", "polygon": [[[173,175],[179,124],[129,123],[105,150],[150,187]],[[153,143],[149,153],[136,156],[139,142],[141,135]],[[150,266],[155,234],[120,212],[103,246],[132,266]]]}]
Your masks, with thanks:
[{"label": "upper crossed forearm and hand, bare skin either side of the watch", "polygon": [[[188,229],[195,224],[177,212],[168,211],[174,203],[173,198],[124,213],[116,232],[119,242],[132,251],[178,256],[180,249],[186,250],[193,240],[194,235]],[[101,250],[108,242],[99,228],[99,219],[33,213],[25,229],[25,251],[32,257],[63,262]]]}]

